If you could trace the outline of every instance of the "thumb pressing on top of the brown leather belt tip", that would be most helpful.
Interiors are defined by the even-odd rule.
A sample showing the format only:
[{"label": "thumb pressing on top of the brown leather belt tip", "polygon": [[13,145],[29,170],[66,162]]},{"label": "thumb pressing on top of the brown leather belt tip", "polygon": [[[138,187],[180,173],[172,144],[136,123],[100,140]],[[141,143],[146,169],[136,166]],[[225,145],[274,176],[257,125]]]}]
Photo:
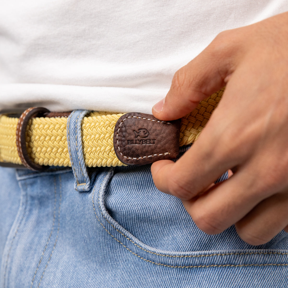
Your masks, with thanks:
[{"label": "thumb pressing on top of the brown leather belt tip", "polygon": [[225,86],[236,67],[238,46],[229,37],[230,33],[220,33],[203,52],[175,73],[168,94],[152,108],[156,118],[179,119]]}]

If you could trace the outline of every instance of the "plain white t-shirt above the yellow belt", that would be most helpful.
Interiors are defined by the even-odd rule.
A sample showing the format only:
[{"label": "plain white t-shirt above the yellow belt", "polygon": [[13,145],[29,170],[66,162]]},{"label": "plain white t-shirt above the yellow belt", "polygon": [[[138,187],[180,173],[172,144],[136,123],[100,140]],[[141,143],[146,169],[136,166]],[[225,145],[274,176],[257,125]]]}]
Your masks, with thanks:
[{"label": "plain white t-shirt above the yellow belt", "polygon": [[2,0],[0,109],[151,113],[219,32],[286,11],[287,0]]}]

